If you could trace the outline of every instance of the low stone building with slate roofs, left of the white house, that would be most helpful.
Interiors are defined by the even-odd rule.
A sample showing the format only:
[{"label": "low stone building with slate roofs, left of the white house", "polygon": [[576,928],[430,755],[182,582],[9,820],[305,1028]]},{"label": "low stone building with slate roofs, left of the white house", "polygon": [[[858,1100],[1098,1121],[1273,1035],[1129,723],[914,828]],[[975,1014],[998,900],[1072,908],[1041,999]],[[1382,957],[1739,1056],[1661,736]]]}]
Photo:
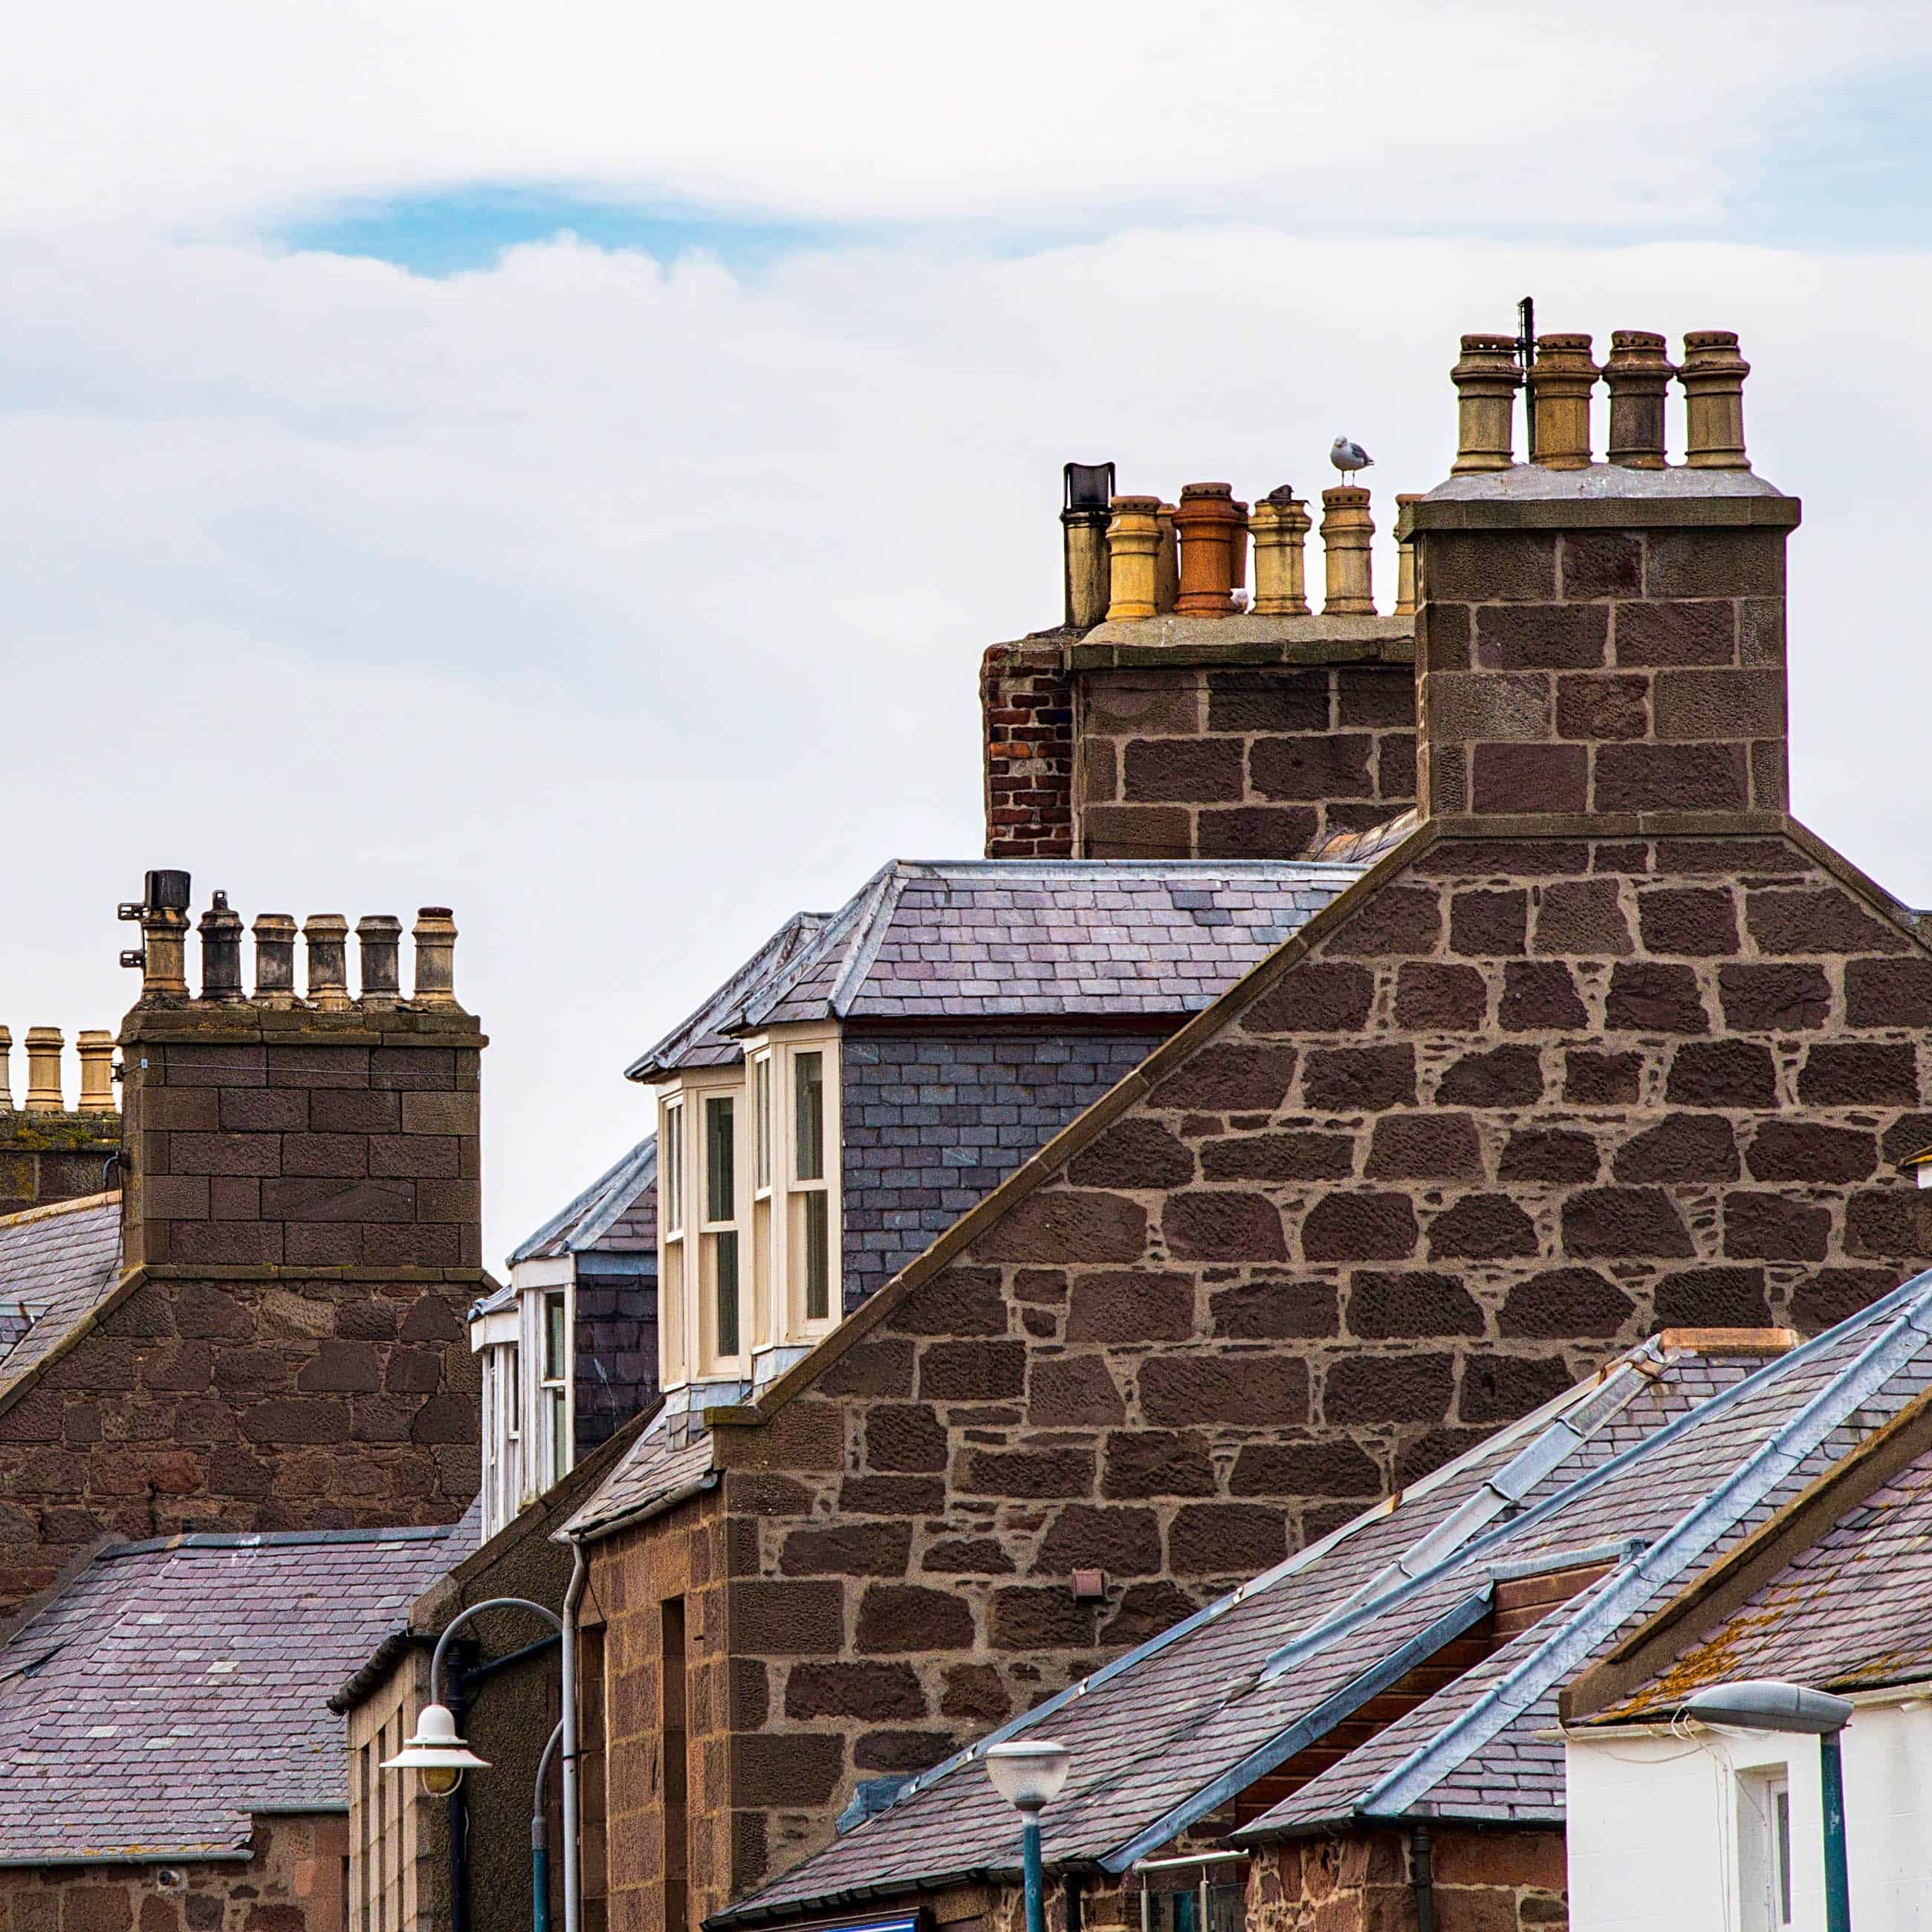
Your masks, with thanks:
[{"label": "low stone building with slate roofs, left of the white house", "polygon": [[[1018,1820],[985,1776],[1005,1739],[1070,1754],[1043,1816],[1061,1932],[1563,1924],[1565,1685],[1762,1546],[1824,1472],[1907,1430],[1922,1443],[1928,1349],[1932,1273],[1803,1345],[1667,1329],[914,1779],[709,1924],[1020,1926]],[[1629,1868],[1633,1843],[1656,1841],[1605,1853]],[[1654,1913],[1654,1862],[1642,1882]]]}]

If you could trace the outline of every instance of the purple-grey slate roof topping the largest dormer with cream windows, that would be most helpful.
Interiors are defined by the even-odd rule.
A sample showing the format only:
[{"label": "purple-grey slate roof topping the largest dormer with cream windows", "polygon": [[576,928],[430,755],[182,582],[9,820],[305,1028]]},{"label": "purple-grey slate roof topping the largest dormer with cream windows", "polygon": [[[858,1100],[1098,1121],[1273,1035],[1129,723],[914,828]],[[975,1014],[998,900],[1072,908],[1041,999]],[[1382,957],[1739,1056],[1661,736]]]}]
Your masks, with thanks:
[{"label": "purple-grey slate roof topping the largest dormer with cream windows", "polygon": [[800,914],[628,1072],[721,1065],[732,1034],[794,1020],[1198,1012],[1358,877],[1308,860],[895,860],[838,912]]}]

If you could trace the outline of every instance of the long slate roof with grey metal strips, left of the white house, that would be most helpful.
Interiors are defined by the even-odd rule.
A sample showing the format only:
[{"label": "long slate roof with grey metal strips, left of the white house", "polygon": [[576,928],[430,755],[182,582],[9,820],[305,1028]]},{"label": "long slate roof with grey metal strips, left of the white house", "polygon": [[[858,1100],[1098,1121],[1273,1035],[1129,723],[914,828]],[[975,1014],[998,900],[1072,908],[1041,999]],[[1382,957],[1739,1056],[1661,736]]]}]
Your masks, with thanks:
[{"label": "long slate roof with grey metal strips, left of the white house", "polygon": [[[1609,1575],[1248,1828],[1362,1818],[1549,1824],[1555,1692],[1654,1596],[1932,1385],[1932,1273],[1812,1343],[1756,1362],[1644,1343],[1602,1378],[1291,1557],[968,1752],[709,1920],[904,1895],[1014,1862],[980,1762],[1036,1733],[1072,1750],[1045,1814],[1051,1862],[1124,1870],[1213,1818],[1443,1642],[1503,1575]],[[1246,1833],[1244,1833],[1246,1835]]]}]

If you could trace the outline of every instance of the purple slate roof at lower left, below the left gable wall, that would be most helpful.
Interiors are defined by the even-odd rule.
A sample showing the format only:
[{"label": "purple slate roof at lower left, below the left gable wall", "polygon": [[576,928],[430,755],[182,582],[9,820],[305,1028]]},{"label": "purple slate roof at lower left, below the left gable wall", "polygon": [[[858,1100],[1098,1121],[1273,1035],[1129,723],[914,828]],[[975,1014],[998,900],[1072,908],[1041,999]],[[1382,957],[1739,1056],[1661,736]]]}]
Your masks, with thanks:
[{"label": "purple slate roof at lower left, below the left gable wall", "polygon": [[346,1804],[328,1694],[466,1534],[102,1549],[0,1646],[0,1864],[238,1857],[253,1810]]}]

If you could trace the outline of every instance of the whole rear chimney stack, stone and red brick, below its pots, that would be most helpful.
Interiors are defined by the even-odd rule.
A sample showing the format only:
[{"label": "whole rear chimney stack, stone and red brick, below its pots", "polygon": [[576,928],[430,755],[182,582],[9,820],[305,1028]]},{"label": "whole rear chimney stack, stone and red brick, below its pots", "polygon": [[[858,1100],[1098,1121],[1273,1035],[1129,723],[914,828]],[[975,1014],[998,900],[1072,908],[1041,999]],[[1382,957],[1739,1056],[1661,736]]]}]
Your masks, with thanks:
[{"label": "whole rear chimney stack, stone and red brick, below its pots", "polygon": [[1302,858],[1381,825],[1416,798],[1412,657],[1406,618],[1163,618],[995,645],[987,858]]}]

